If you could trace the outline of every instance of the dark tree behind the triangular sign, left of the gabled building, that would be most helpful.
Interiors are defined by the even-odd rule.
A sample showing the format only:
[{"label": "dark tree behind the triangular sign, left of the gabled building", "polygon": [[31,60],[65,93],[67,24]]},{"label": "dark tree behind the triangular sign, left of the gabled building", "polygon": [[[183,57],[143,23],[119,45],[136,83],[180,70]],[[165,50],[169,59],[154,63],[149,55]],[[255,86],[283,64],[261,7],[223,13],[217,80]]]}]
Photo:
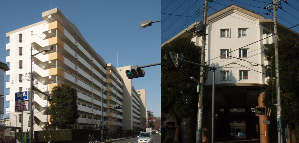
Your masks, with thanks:
[{"label": "dark tree behind the triangular sign, left of the gabled building", "polygon": [[[190,77],[199,79],[200,67],[181,62],[175,67],[169,52],[183,53],[184,60],[200,63],[200,47],[191,38],[179,38],[161,48],[161,111],[167,117],[176,117],[174,141],[179,142],[181,119],[191,119],[197,114],[197,83]],[[195,92],[193,91],[195,88]]]}]

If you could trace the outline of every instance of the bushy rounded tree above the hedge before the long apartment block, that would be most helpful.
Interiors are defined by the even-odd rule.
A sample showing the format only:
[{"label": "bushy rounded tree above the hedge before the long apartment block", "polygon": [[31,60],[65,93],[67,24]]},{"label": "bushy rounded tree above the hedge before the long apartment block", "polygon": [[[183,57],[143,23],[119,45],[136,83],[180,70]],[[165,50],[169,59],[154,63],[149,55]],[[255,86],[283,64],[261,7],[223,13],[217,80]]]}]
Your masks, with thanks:
[{"label": "bushy rounded tree above the hedge before the long apartment block", "polygon": [[49,108],[50,122],[61,129],[69,128],[79,117],[77,91],[71,85],[53,87],[53,98]]}]

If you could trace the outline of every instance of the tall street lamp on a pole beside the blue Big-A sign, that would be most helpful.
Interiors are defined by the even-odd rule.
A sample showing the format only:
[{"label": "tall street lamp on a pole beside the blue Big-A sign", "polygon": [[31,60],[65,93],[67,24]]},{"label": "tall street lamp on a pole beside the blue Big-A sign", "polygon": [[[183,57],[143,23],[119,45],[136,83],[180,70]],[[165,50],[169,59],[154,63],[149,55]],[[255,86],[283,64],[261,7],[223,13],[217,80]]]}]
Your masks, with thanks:
[{"label": "tall street lamp on a pole beside the blue Big-A sign", "polygon": [[[53,50],[53,46],[45,46],[42,48],[43,50],[41,52],[50,52],[51,50]],[[32,83],[32,57],[36,56],[37,54],[41,53],[38,52],[36,54],[32,55],[32,47],[30,48],[30,102],[31,102],[31,109],[30,109],[30,119],[29,119],[29,123],[30,123],[30,132],[29,132],[29,136],[30,136],[30,143],[33,143],[33,83]],[[49,96],[48,96],[49,99]]]}]

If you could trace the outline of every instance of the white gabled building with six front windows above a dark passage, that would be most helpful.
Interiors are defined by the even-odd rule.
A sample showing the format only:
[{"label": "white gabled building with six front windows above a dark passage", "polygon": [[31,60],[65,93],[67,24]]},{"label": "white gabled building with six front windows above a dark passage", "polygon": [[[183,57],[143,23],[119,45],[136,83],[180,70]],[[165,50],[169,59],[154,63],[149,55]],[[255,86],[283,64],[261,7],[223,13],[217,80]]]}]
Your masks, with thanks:
[{"label": "white gabled building with six front windows above a dark passage", "polygon": [[[197,46],[202,47],[202,37],[196,36],[193,32],[187,32],[194,25],[196,23],[181,31],[166,43],[171,44],[180,37],[191,37]],[[278,32],[284,31],[284,33],[289,33],[293,37],[299,34],[292,29],[286,30],[287,27],[280,23],[277,25]],[[265,19],[262,15],[232,4],[219,12],[208,15],[206,29],[208,35],[206,36],[205,62],[208,66],[218,67],[215,72],[215,109],[224,109],[224,114],[227,114],[227,116],[231,114],[232,117],[233,113],[229,113],[229,108],[244,108],[244,112],[249,114],[252,112],[251,108],[263,106],[264,84],[271,78],[271,72],[265,68],[269,63],[264,55],[265,52],[268,52],[270,46],[274,46],[274,36],[272,36],[272,33],[274,33],[273,19]],[[228,53],[229,56],[227,56]],[[274,54],[274,51],[272,53]],[[184,55],[184,57],[187,56]],[[254,65],[263,65],[264,67]],[[209,71],[204,88],[209,100],[212,97],[212,75],[212,71]],[[204,104],[205,102],[211,104],[211,101],[203,102]],[[208,109],[206,116],[211,116],[211,108]],[[246,128],[247,133],[252,132],[251,125],[255,128],[257,124],[260,130],[260,141],[264,141],[265,124],[263,124],[263,120],[265,120],[265,116],[250,117],[252,118],[243,119],[246,121],[246,126],[248,126]],[[210,142],[211,119],[203,119],[203,124],[207,125],[207,127],[204,127],[206,129],[203,129],[203,142]],[[229,121],[225,121],[222,125],[229,126]],[[217,126],[216,123],[215,126],[219,130],[222,129],[220,124]],[[230,132],[228,129],[224,129],[226,133]],[[269,133],[268,130],[267,133]],[[184,142],[187,142],[187,138],[191,138],[188,134],[190,133],[187,131],[183,132],[183,136],[186,135],[184,136],[186,139]],[[216,131],[216,134],[217,138],[224,133]],[[247,137],[250,139],[251,135],[247,134]],[[267,140],[269,141],[269,139]]]}]

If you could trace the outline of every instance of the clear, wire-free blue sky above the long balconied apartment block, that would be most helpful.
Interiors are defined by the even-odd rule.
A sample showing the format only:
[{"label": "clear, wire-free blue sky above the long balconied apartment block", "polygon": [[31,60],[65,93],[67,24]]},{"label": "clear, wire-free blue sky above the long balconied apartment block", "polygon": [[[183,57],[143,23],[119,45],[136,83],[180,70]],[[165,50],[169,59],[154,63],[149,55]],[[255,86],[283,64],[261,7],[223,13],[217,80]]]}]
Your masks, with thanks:
[{"label": "clear, wire-free blue sky above the long balconied apartment block", "polygon": [[[139,30],[144,20],[161,20],[161,1],[79,1],[79,0],[33,0],[0,1],[0,61],[6,62],[5,49],[9,39],[6,33],[39,21],[42,12],[57,7],[76,25],[86,41],[115,67],[148,65],[161,62],[161,23]],[[118,51],[118,60],[117,60]],[[133,79],[135,89],[146,88],[146,105],[154,116],[161,116],[161,66],[144,68],[145,76]],[[9,94],[4,76],[4,95]],[[5,97],[4,97],[5,102]],[[8,102],[4,103],[8,107]],[[4,115],[8,116],[7,114]],[[1,116],[2,117],[2,116]]]}]

